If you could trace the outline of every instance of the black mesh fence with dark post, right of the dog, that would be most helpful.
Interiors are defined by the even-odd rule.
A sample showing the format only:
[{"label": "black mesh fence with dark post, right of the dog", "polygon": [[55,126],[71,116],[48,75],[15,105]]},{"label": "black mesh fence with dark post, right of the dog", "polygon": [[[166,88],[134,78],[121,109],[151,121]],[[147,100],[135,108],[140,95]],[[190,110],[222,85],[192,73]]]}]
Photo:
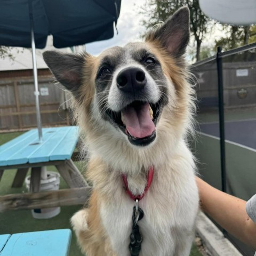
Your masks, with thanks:
[{"label": "black mesh fence with dark post, right of the dog", "polygon": [[[219,52],[191,71],[198,99],[199,172],[212,186],[247,201],[256,194],[256,44]],[[224,233],[243,255],[254,255]]]}]

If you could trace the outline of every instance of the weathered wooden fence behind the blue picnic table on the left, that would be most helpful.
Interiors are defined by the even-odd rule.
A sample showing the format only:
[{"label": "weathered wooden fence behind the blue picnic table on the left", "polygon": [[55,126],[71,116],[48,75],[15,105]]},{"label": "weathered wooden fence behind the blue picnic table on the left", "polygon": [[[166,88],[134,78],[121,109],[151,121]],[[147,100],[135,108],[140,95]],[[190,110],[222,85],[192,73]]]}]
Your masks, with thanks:
[{"label": "weathered wooden fence behind the blue picnic table on the left", "polygon": [[[61,85],[54,85],[49,74],[38,76],[38,87],[48,94],[39,97],[42,125],[70,125],[72,114],[65,103],[70,99]],[[37,126],[34,91],[31,76],[0,79],[0,131]]]}]

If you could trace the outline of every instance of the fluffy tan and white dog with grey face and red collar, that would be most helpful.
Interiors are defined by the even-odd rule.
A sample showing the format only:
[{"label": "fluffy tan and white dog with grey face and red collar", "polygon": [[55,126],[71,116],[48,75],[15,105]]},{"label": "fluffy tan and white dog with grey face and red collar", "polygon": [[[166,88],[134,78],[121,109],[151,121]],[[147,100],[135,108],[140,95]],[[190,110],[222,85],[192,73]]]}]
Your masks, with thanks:
[{"label": "fluffy tan and white dog with grey face and red collar", "polygon": [[98,57],[43,54],[73,94],[90,155],[88,207],[71,218],[88,256],[190,253],[198,191],[187,142],[195,110],[188,42],[189,10],[182,7],[145,42],[111,47]]}]

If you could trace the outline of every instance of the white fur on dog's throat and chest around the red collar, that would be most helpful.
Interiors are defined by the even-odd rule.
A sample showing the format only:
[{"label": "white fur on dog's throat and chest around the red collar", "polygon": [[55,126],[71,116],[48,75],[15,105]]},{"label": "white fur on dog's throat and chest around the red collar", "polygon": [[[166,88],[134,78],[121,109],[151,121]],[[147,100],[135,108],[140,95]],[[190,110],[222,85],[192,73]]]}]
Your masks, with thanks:
[{"label": "white fur on dog's throat and chest around the red collar", "polygon": [[[94,111],[96,114],[97,108]],[[89,139],[91,157],[100,155],[116,172],[106,180],[104,187],[99,188],[97,183],[94,187],[112,195],[110,203],[101,202],[100,216],[117,255],[130,255],[128,246],[134,206],[124,191],[121,173],[128,173],[129,188],[138,194],[146,181],[143,179],[138,186],[141,179],[139,171],[142,166],[150,165],[155,166],[153,182],[145,198],[139,202],[145,212],[138,223],[143,235],[140,256],[189,255],[198,210],[198,193],[193,156],[182,136],[178,136],[181,131],[172,131],[170,127],[167,130],[167,120],[160,119],[156,141],[148,147],[136,147],[108,122],[98,122],[102,122],[105,132],[93,141]]]}]

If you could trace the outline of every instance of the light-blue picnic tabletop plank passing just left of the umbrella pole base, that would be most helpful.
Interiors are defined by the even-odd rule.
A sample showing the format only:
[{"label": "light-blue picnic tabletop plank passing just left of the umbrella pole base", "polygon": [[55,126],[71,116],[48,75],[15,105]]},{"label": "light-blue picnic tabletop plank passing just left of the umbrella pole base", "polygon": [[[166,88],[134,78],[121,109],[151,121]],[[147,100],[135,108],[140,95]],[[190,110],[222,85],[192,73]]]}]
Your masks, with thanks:
[{"label": "light-blue picnic tabletop plank passing just left of the umbrella pole base", "polygon": [[[53,131],[53,132],[51,132]],[[21,148],[17,153],[14,153],[12,156],[6,159],[6,165],[14,165],[14,164],[26,164],[29,162],[29,157],[31,154],[36,152],[37,150],[40,150],[40,148],[44,145],[44,143],[51,139],[55,135],[55,130],[46,128],[43,129],[43,142],[40,144],[35,144],[35,142],[38,142],[38,139],[35,139],[34,141],[27,142],[26,145],[24,145],[23,148]],[[50,159],[46,159],[44,162],[49,161]]]}]

